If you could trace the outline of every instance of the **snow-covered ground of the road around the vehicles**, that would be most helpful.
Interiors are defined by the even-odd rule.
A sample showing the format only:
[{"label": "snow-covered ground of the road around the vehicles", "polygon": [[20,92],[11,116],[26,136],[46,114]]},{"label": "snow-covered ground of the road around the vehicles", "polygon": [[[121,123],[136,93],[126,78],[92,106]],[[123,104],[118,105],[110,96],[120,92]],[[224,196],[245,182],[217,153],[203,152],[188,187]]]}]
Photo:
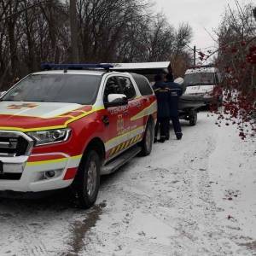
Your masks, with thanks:
[{"label": "snow-covered ground of the road around the vehicles", "polygon": [[88,211],[0,201],[0,255],[256,255],[256,146],[200,113],[102,179]]}]

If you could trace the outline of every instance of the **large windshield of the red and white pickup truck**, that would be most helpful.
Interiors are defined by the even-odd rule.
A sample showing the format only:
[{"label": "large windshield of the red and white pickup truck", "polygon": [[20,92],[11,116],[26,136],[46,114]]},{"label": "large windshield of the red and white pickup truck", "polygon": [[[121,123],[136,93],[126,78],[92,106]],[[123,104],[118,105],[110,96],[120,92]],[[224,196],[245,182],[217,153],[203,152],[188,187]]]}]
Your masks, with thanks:
[{"label": "large windshield of the red and white pickup truck", "polygon": [[1,101],[93,104],[102,77],[87,74],[34,74],[21,80]]}]

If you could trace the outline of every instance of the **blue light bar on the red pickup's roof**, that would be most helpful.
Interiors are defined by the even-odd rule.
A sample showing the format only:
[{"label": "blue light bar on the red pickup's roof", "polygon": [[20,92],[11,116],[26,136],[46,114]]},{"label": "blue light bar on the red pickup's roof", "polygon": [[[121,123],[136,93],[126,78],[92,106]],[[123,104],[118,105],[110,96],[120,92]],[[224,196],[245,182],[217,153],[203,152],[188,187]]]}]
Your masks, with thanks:
[{"label": "blue light bar on the red pickup's roof", "polygon": [[112,68],[113,66],[110,65],[110,64],[55,64],[55,63],[42,63],[41,64],[41,69],[43,70],[67,70],[67,69],[75,69],[75,70],[78,70],[78,69],[98,69],[98,68],[102,68],[102,69],[109,69],[109,68]]}]

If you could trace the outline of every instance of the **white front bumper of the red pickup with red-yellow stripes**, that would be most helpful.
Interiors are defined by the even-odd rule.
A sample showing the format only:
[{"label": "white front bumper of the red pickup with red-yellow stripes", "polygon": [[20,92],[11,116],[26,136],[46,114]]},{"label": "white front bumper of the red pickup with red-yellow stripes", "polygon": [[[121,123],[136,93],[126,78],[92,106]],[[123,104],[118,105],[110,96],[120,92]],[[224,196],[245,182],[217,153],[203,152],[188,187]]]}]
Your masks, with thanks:
[{"label": "white front bumper of the red pickup with red-yellow stripes", "polygon": [[[32,158],[33,161],[29,161]],[[65,175],[79,166],[80,159],[81,156],[62,153],[34,154],[30,158],[0,157],[0,164],[3,164],[0,191],[40,192],[67,188],[73,178],[66,179]],[[46,177],[45,173],[49,171],[54,171],[55,177]],[[18,179],[9,178],[12,174],[18,175]]]}]

